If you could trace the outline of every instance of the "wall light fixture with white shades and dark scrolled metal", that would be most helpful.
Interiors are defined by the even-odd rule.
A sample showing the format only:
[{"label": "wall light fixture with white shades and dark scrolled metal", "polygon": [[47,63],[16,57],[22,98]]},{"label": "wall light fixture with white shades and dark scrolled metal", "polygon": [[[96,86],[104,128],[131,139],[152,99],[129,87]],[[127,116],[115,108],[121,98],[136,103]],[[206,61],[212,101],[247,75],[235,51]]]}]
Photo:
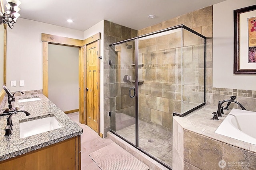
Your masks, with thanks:
[{"label": "wall light fixture with white shades and dark scrolled metal", "polygon": [[16,23],[16,20],[20,16],[18,13],[20,8],[18,7],[21,2],[20,0],[6,0],[7,1],[7,11],[2,14],[0,12],[0,25],[7,23],[10,28],[13,28],[13,24]]}]

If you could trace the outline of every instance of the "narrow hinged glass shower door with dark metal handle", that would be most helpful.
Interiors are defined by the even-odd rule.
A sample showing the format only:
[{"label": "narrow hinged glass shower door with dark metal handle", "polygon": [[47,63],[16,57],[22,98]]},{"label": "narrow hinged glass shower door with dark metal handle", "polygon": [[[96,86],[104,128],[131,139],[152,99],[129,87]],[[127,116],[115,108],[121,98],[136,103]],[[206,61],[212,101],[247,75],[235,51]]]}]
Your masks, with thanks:
[{"label": "narrow hinged glass shower door with dark metal handle", "polygon": [[[135,41],[113,47],[115,55],[110,56],[110,83],[113,102],[116,102],[115,126],[111,129],[135,145]],[[115,74],[115,76],[113,76]]]}]

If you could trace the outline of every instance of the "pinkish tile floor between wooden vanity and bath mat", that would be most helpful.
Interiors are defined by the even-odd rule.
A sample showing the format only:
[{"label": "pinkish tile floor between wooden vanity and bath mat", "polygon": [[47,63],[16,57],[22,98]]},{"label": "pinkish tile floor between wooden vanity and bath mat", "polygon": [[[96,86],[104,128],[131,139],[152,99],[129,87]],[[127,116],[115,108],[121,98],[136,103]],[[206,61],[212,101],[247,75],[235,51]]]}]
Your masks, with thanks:
[{"label": "pinkish tile floor between wooden vanity and bath mat", "polygon": [[79,123],[78,112],[67,115],[83,128],[81,135],[81,170],[100,170],[89,154],[114,142],[108,138],[102,139],[90,127]]}]

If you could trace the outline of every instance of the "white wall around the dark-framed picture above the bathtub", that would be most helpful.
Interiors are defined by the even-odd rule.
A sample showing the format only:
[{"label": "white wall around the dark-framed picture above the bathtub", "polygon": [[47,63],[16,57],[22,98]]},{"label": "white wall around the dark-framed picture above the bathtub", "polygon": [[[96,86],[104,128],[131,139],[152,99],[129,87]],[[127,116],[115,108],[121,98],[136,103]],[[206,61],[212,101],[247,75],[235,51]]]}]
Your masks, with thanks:
[{"label": "white wall around the dark-framed picture above the bathtub", "polygon": [[226,0],[213,6],[213,87],[256,90],[256,74],[233,74],[233,11],[256,0]]}]

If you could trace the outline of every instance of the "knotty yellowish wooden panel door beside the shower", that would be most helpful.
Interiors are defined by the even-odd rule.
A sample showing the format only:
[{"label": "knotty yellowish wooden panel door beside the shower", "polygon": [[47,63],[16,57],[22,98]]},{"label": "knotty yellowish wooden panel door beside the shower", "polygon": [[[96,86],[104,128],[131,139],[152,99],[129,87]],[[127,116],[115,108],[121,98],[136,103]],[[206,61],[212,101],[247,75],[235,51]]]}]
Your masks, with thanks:
[{"label": "knotty yellowish wooden panel door beside the shower", "polygon": [[99,59],[97,41],[86,45],[86,121],[99,133]]}]

